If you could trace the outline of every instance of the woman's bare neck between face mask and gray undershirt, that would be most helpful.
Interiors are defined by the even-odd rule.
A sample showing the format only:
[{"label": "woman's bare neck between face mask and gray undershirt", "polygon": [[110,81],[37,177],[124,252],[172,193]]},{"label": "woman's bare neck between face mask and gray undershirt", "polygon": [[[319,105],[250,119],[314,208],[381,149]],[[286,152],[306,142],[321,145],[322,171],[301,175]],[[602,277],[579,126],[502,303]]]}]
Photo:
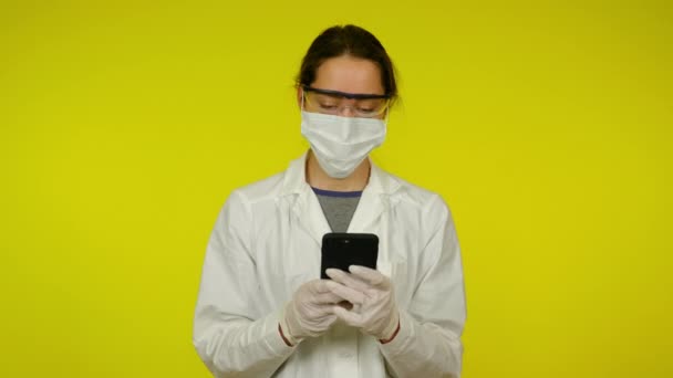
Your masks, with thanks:
[{"label": "woman's bare neck between face mask and gray undershirt", "polygon": [[351,176],[338,179],[328,176],[322,170],[318,159],[313,156],[313,151],[309,151],[307,157],[307,182],[318,189],[333,191],[361,191],[364,190],[370,179],[370,159],[362,160],[360,166],[351,174]]}]

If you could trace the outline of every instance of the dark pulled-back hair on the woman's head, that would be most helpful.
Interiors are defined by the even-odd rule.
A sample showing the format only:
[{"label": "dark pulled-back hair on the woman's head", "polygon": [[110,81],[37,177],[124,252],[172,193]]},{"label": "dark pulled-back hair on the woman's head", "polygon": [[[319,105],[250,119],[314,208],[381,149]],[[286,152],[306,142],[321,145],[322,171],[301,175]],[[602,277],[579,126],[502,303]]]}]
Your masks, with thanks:
[{"label": "dark pulled-back hair on the woman's head", "polygon": [[315,81],[318,67],[325,60],[342,55],[366,59],[376,63],[381,71],[381,83],[385,94],[393,101],[397,98],[395,69],[385,49],[374,34],[350,24],[329,28],[313,40],[301,61],[301,69],[296,80],[297,85],[311,85]]}]

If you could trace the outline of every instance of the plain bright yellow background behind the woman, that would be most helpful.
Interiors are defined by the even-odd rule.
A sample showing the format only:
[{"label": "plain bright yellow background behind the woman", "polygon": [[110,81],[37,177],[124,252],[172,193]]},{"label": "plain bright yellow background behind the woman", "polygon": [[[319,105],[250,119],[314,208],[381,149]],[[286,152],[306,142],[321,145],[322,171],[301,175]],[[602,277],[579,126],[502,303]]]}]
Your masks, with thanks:
[{"label": "plain bright yellow background behind the woman", "polygon": [[400,71],[375,160],[456,219],[464,377],[673,376],[671,2],[242,3],[0,2],[0,377],[208,376],[215,218],[349,22]]}]

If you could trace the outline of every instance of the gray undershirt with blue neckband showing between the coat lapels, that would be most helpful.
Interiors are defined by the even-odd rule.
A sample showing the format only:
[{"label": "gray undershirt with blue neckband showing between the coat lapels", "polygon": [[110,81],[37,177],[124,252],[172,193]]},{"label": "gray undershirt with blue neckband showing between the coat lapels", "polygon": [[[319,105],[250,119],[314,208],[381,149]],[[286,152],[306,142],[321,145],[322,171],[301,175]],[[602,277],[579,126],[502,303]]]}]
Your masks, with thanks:
[{"label": "gray undershirt with blue neckband showing between the coat lapels", "polygon": [[332,232],[346,232],[362,191],[331,191],[313,188]]}]

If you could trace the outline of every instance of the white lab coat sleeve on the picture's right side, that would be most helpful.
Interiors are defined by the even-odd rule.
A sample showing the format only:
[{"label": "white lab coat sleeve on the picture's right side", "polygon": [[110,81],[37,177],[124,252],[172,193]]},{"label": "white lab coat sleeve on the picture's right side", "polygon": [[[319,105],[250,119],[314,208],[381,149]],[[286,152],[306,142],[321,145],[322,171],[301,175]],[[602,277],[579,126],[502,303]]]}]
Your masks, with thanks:
[{"label": "white lab coat sleeve on the picture's right side", "polygon": [[[436,203],[436,202],[441,203]],[[400,332],[380,345],[394,377],[460,376],[466,319],[460,249],[448,208],[437,196],[431,206],[436,231],[421,253],[424,274],[408,308],[400,308]]]}]

